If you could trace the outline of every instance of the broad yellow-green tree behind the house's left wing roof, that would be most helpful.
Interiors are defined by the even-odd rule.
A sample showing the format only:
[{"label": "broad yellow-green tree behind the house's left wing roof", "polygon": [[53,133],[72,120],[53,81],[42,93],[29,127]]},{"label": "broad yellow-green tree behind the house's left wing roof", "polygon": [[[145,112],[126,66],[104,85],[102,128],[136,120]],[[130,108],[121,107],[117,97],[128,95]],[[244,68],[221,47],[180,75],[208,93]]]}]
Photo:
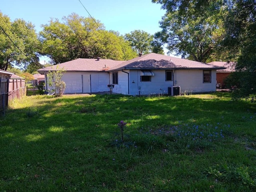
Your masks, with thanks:
[{"label": "broad yellow-green tree behind the house's left wing roof", "polygon": [[59,20],[42,25],[41,54],[52,59],[53,64],[76,58],[108,58],[127,60],[134,58],[129,43],[118,33],[106,31],[94,18],[84,18],[73,13]]}]

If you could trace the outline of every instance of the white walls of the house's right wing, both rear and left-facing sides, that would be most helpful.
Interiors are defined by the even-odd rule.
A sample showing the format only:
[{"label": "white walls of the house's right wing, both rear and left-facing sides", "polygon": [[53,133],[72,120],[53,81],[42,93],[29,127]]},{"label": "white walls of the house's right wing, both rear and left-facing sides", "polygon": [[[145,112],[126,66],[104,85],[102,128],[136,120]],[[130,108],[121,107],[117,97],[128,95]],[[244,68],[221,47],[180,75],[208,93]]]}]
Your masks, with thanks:
[{"label": "white walls of the house's right wing, both rear and left-facing sides", "polygon": [[[150,82],[140,81],[140,70],[118,71],[118,84],[112,89],[115,93],[125,95],[167,94],[168,87],[180,86],[180,91],[214,92],[216,91],[216,70],[211,70],[211,82],[203,82],[203,70],[151,70]],[[174,72],[174,80],[166,81],[166,71]],[[126,74],[125,72],[128,72]],[[110,83],[112,73],[110,73]],[[128,84],[129,76],[129,84]]]}]

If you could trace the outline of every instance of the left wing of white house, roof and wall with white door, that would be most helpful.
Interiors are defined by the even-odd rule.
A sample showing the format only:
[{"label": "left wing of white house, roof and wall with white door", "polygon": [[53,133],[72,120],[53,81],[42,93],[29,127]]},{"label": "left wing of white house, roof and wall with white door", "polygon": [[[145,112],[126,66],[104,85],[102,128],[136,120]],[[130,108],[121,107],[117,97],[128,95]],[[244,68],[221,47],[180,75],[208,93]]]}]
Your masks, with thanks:
[{"label": "left wing of white house, roof and wall with white door", "polygon": [[[107,85],[110,83],[110,74],[106,70],[122,62],[124,61],[78,58],[37,71],[45,75],[47,82],[49,71],[65,70],[62,76],[62,80],[66,83],[65,93],[105,92],[109,91]],[[46,83],[46,90],[48,88]]]}]

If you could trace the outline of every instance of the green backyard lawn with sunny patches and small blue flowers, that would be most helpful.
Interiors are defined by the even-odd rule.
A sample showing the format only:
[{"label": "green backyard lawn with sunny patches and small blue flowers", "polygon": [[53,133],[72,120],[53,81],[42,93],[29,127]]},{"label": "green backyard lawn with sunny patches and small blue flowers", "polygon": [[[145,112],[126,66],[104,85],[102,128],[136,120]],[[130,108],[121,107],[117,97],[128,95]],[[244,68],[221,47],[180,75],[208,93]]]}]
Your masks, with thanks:
[{"label": "green backyard lawn with sunny patches and small blue flowers", "polygon": [[228,93],[28,96],[0,118],[0,191],[255,191],[255,122]]}]

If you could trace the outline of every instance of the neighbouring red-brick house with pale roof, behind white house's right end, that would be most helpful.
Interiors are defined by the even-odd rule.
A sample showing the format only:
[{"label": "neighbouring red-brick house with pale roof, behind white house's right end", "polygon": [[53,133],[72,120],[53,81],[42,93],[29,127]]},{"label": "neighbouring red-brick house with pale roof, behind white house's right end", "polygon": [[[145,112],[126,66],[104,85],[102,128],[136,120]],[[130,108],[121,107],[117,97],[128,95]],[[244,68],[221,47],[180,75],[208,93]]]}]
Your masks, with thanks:
[{"label": "neighbouring red-brick house with pale roof, behind white house's right end", "polygon": [[222,61],[213,61],[208,63],[210,65],[225,67],[225,69],[216,70],[216,87],[224,88],[225,87],[225,79],[230,75],[230,73],[234,72],[234,62],[222,62]]}]

